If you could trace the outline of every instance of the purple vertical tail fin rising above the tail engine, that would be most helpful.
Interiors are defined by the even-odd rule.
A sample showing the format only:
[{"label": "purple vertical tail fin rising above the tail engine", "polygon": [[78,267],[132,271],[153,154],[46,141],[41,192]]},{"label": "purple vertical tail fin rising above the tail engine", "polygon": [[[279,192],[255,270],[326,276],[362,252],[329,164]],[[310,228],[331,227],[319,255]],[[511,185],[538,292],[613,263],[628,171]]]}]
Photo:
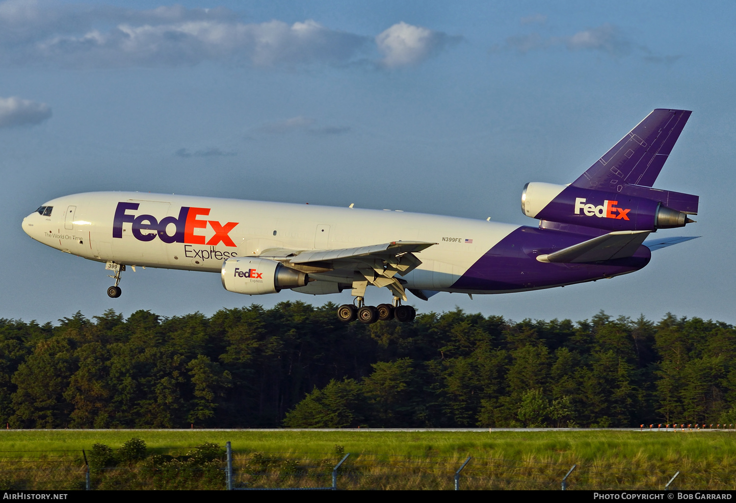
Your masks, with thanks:
[{"label": "purple vertical tail fin rising above the tail engine", "polygon": [[625,185],[651,187],[662,171],[690,110],[657,108],[585,171],[573,187],[610,192]]}]

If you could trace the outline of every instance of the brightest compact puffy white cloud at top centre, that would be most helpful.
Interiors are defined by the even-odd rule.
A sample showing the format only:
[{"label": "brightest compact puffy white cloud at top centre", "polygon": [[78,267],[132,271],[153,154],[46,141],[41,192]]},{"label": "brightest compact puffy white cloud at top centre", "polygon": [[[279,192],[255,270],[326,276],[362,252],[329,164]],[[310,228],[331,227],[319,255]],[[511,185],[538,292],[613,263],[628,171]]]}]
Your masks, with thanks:
[{"label": "brightest compact puffy white cloud at top centre", "polygon": [[456,40],[459,38],[402,21],[379,34],[375,43],[383,54],[381,63],[388,68],[397,68],[421,63]]}]

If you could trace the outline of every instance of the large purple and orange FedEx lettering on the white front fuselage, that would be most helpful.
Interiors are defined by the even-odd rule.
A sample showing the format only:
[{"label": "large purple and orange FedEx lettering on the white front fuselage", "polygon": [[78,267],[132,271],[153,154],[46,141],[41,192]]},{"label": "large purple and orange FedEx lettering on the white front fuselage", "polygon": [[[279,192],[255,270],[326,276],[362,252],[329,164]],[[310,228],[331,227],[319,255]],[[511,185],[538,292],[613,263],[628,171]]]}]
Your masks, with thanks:
[{"label": "large purple and orange FedEx lettering on the white front fuselage", "polygon": [[[179,217],[167,216],[159,221],[153,215],[131,215],[128,212],[138,210],[138,203],[118,202],[113,218],[113,238],[123,237],[123,224],[132,224],[132,234],[139,241],[150,241],[156,238],[164,243],[190,243],[202,245],[236,246],[228,233],[238,225],[238,222],[220,224],[215,220],[200,220],[199,215],[209,215],[210,208],[185,207],[179,211]],[[167,229],[174,224],[174,233],[169,234]],[[196,234],[197,229],[207,229],[210,226],[215,235],[205,243],[205,236]]]}]

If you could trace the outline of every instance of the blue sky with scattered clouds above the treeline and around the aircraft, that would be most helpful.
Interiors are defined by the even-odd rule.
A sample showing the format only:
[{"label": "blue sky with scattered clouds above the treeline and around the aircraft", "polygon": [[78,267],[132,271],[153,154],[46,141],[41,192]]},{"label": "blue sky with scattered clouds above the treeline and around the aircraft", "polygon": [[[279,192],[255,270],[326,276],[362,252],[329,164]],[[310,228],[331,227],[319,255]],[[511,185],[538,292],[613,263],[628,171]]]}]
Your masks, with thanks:
[{"label": "blue sky with scattered clouds above the treeline and around the aircraft", "polygon": [[[28,238],[43,201],[140,190],[535,225],[526,182],[568,183],[652,109],[693,110],[655,187],[701,196],[702,238],[626,277],[422,311],[736,323],[736,4],[713,1],[0,2],[0,317],[160,315],[286,299],[215,274],[104,266]],[[383,289],[385,290],[385,289]],[[390,295],[375,290],[378,304]]]}]

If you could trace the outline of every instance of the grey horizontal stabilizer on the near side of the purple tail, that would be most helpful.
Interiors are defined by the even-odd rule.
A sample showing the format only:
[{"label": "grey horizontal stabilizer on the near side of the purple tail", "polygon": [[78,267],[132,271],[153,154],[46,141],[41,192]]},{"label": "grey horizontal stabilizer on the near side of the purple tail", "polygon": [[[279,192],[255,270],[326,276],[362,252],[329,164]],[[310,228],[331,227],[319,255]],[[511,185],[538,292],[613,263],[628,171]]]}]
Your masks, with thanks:
[{"label": "grey horizontal stabilizer on the near side of the purple tail", "polygon": [[551,254],[539,255],[539,262],[582,263],[631,257],[649,235],[649,231],[609,232]]}]

